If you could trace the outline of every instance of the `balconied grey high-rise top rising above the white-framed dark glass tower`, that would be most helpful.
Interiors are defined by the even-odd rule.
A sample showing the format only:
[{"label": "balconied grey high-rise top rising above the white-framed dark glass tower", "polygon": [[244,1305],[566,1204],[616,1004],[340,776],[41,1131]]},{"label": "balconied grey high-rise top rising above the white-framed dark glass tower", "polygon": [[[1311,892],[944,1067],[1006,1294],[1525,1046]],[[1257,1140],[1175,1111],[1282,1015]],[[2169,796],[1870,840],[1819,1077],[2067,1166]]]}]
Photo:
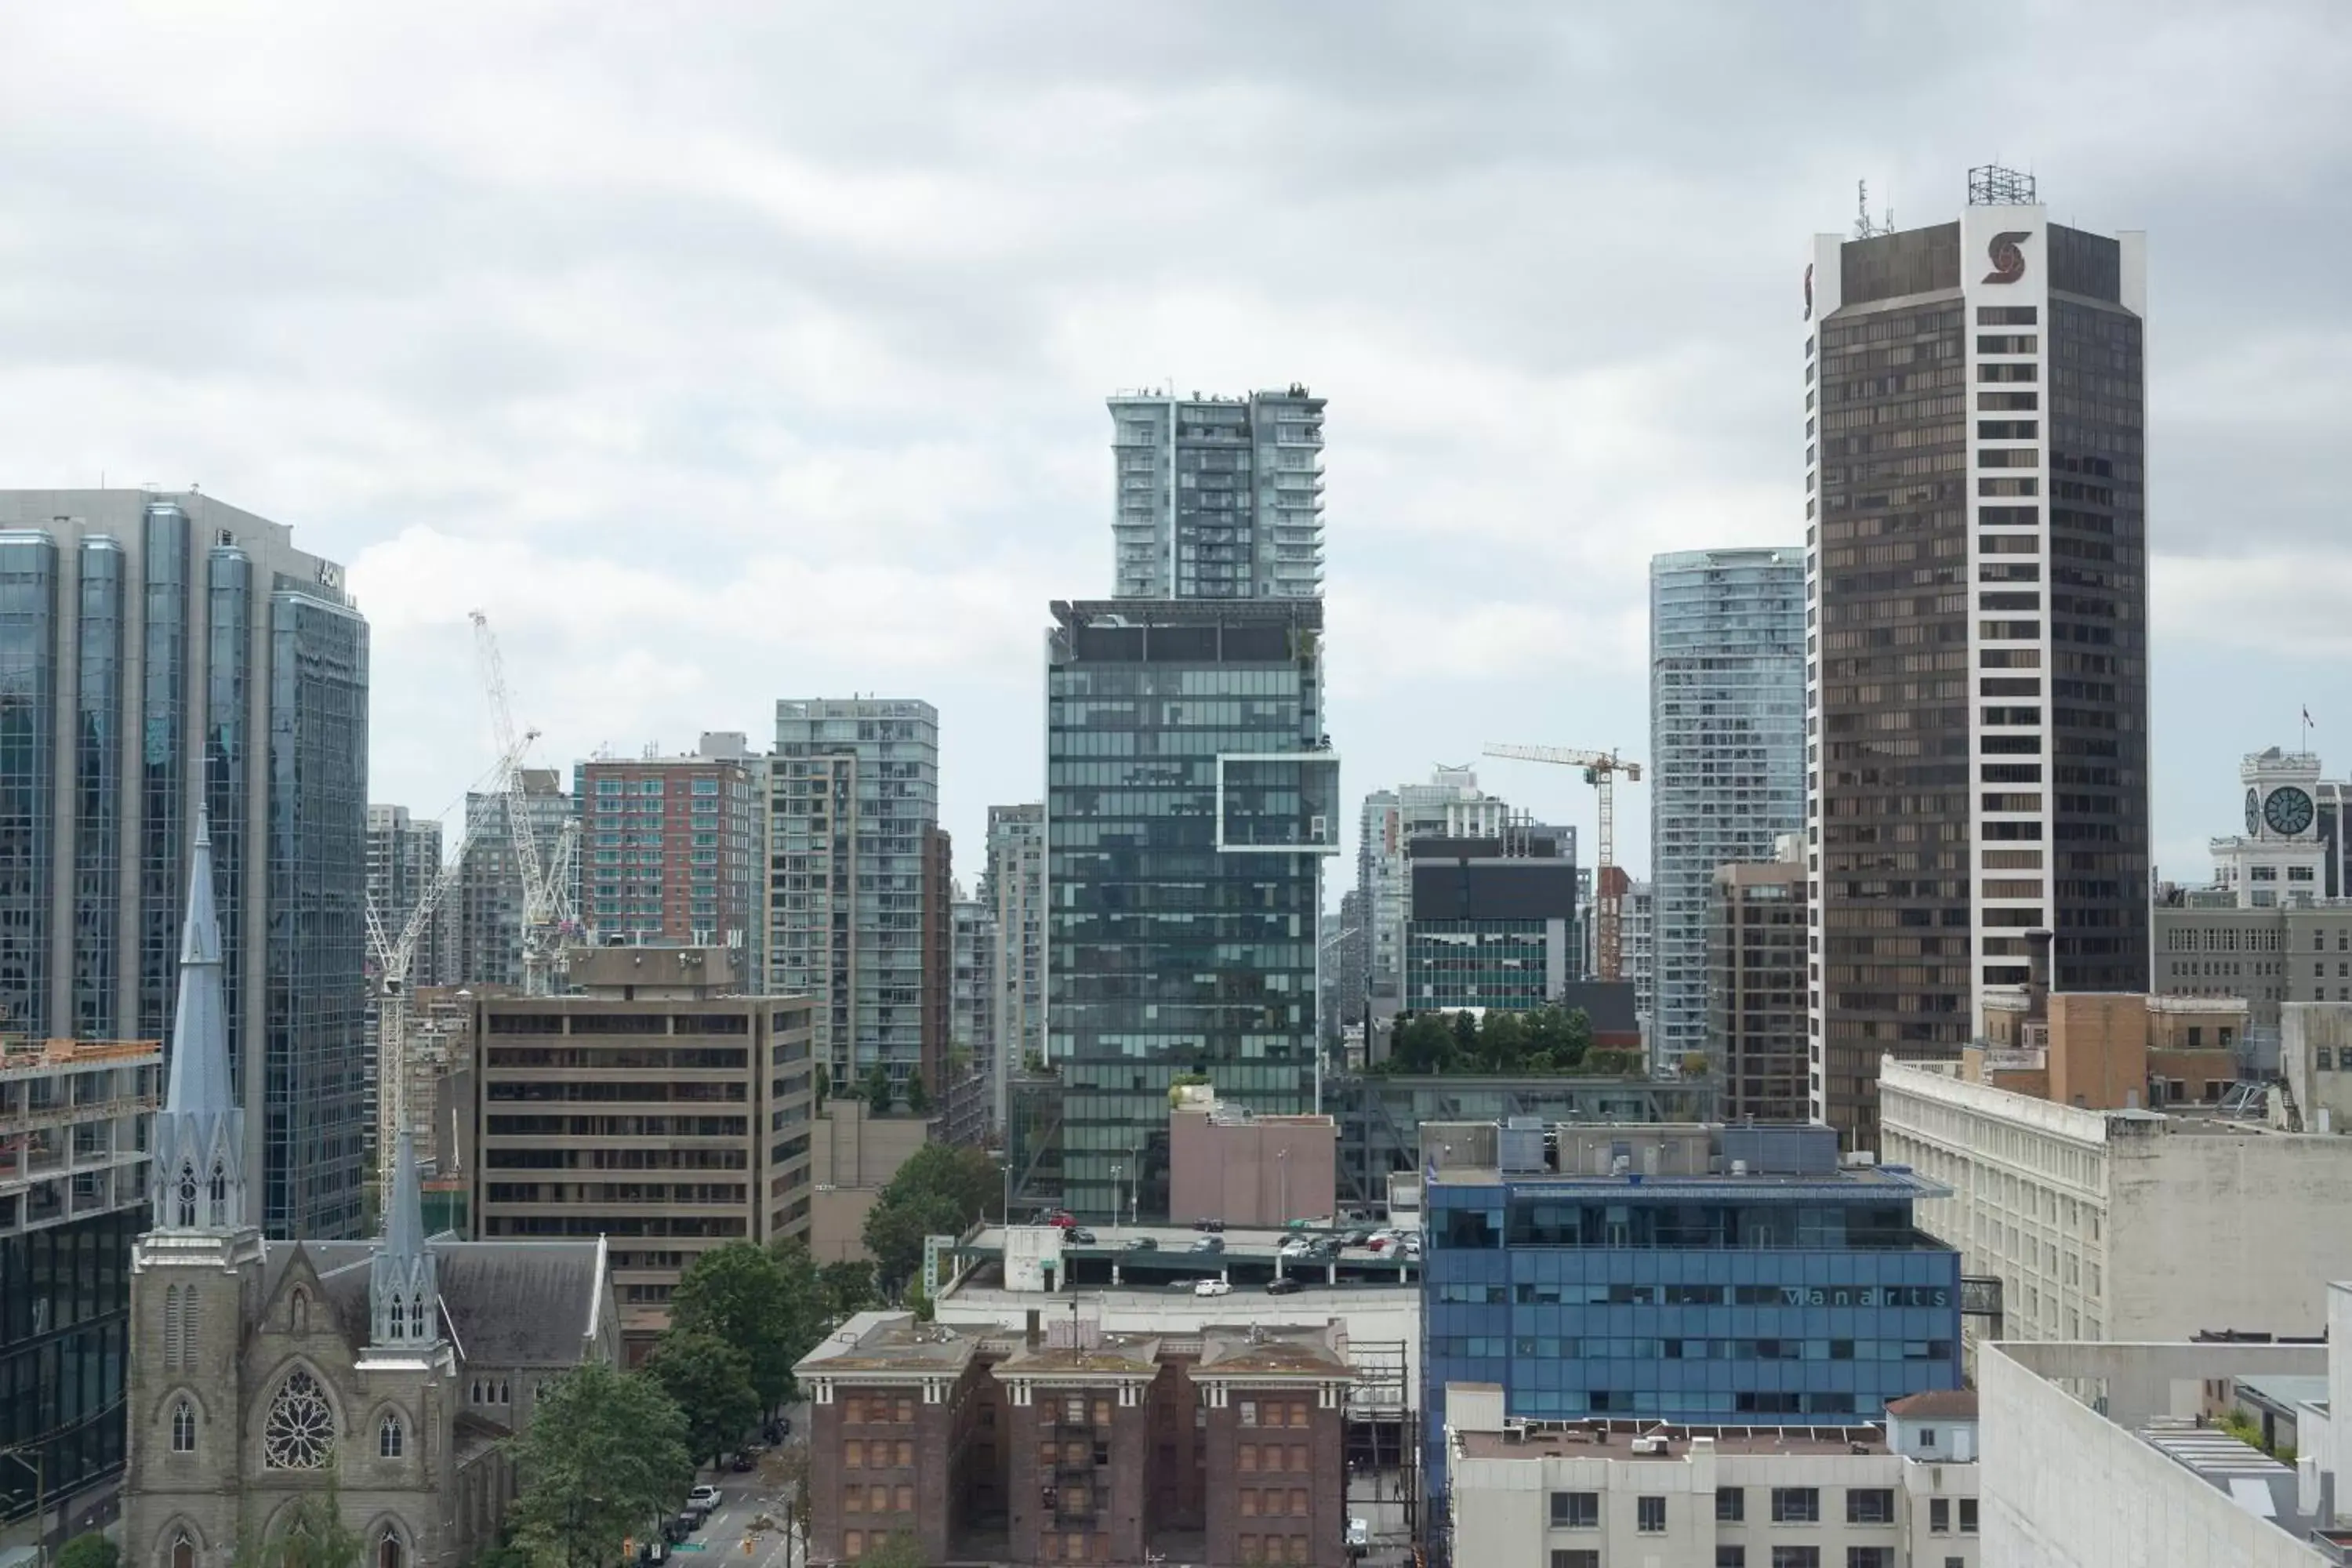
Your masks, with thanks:
[{"label": "balconied grey high-rise top rising above the white-framed dark glass tower", "polygon": [[1322,599],[1322,411],[1303,386],[1110,397],[1122,599]]}]

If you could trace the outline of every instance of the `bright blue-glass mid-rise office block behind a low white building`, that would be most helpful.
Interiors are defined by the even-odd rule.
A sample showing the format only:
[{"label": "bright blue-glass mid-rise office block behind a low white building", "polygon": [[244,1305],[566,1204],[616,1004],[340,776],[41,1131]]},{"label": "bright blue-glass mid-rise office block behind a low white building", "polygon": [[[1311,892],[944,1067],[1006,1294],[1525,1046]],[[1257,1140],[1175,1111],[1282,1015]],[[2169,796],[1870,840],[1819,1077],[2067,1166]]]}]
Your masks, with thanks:
[{"label": "bright blue-glass mid-rise office block behind a low white building", "polygon": [[1825,1126],[1559,1128],[1562,1171],[1428,1185],[1423,1408],[1494,1382],[1538,1420],[1844,1425],[1959,1387],[1959,1253],[1912,1227],[1945,1190],[1842,1171]]}]

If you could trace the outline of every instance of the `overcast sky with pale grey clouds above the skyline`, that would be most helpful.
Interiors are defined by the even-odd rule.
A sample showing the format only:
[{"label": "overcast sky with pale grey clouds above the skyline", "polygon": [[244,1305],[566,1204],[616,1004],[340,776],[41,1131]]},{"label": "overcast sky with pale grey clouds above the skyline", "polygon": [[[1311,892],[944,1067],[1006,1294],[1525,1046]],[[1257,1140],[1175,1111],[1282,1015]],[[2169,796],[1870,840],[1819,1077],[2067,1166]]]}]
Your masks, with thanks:
[{"label": "overcast sky with pale grey clouds above the skyline", "polygon": [[2150,233],[2157,863],[2204,877],[2303,705],[2352,769],[2347,82],[2336,2],[12,5],[0,484],[343,559],[421,813],[489,762],[473,607],[564,766],[929,698],[969,882],[1042,795],[1047,602],[1110,588],[1105,393],[1331,400],[1348,795],[1642,755],[1649,557],[1802,541],[1806,237],[2004,160]]}]

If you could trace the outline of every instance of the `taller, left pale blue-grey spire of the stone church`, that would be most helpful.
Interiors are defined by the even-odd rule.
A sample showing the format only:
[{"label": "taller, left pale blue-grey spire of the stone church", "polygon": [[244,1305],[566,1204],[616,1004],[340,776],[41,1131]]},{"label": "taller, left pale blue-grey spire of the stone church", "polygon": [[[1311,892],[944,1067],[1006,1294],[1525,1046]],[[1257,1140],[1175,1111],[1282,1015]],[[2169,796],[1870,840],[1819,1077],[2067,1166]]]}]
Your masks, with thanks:
[{"label": "taller, left pale blue-grey spire of the stone church", "polygon": [[212,905],[212,823],[198,811],[179,938],[172,1081],[155,1112],[155,1229],[245,1229],[245,1107],[228,1074],[221,919]]}]

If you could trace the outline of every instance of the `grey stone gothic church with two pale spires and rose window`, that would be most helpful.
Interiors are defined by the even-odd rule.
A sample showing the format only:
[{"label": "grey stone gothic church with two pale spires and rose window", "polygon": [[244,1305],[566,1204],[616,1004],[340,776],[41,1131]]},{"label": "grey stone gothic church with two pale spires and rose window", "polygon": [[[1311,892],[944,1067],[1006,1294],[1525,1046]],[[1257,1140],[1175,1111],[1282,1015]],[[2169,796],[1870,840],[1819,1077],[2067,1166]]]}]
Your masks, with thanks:
[{"label": "grey stone gothic church with two pale spires and rose window", "polygon": [[539,1385],[619,1356],[604,1241],[428,1239],[407,1133],[379,1241],[266,1241],[223,1020],[200,823],[132,1258],[125,1568],[228,1568],[329,1465],[365,1568],[459,1568],[499,1540]]}]

